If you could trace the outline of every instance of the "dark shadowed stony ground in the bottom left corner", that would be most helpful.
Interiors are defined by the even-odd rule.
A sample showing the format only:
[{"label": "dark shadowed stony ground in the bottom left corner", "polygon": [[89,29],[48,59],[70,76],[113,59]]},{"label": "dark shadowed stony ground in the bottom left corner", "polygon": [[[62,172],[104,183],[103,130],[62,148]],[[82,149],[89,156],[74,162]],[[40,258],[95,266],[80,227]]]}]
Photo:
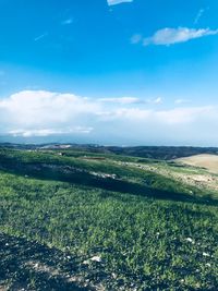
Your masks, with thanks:
[{"label": "dark shadowed stony ground in the bottom left corner", "polygon": [[[59,250],[0,233],[0,289],[94,290],[80,287],[82,279],[75,275],[80,272],[80,265]],[[61,271],[61,267],[70,271]]]}]

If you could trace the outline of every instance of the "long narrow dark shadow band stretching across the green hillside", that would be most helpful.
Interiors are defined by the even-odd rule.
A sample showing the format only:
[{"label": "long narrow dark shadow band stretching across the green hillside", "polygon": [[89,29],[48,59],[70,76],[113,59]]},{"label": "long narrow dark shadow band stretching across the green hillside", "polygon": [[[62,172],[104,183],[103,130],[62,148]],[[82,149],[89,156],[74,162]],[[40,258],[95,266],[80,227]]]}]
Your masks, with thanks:
[{"label": "long narrow dark shadow band stretching across the green hillside", "polygon": [[165,191],[138,183],[128,182],[112,178],[101,178],[94,175],[88,171],[72,166],[58,163],[24,162],[15,158],[0,156],[0,169],[19,175],[51,180],[59,182],[69,182],[84,186],[93,186],[112,192],[129,193],[133,195],[147,196],[158,199],[191,202],[198,204],[218,205],[218,201],[209,195],[199,197],[185,193]]}]

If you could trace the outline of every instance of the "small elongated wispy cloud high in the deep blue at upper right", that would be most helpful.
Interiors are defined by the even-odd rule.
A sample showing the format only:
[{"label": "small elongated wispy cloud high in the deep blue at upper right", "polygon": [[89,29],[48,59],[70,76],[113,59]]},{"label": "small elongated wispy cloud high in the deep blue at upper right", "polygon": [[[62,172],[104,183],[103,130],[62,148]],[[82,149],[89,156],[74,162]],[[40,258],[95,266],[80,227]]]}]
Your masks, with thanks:
[{"label": "small elongated wispy cloud high in the deep blue at upper right", "polygon": [[132,44],[143,43],[144,46],[156,45],[156,46],[169,46],[179,43],[185,43],[191,39],[201,38],[209,35],[217,35],[218,29],[209,29],[209,28],[187,28],[187,27],[179,27],[179,28],[162,28],[157,31],[153,36],[142,38],[133,36]]}]

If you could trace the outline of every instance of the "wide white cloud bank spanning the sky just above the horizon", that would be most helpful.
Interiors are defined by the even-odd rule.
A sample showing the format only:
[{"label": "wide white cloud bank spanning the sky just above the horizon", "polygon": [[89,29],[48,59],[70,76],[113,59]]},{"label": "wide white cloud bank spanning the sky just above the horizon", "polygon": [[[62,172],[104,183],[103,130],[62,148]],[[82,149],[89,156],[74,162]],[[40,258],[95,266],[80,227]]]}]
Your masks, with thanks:
[{"label": "wide white cloud bank spanning the sky just above the horizon", "polygon": [[166,108],[161,101],[160,97],[143,102],[134,97],[92,99],[25,90],[0,99],[0,133],[25,138],[76,134],[114,144],[216,140],[217,106],[180,107],[178,102],[175,108]]}]

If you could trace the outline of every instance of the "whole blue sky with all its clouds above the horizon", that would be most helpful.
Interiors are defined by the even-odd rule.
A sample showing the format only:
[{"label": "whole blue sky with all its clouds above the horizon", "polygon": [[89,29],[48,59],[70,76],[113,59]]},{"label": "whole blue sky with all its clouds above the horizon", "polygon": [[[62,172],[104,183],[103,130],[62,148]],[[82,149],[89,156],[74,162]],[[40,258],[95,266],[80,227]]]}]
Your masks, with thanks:
[{"label": "whole blue sky with all its clouds above the horizon", "polygon": [[0,0],[0,141],[218,146],[217,0]]}]

